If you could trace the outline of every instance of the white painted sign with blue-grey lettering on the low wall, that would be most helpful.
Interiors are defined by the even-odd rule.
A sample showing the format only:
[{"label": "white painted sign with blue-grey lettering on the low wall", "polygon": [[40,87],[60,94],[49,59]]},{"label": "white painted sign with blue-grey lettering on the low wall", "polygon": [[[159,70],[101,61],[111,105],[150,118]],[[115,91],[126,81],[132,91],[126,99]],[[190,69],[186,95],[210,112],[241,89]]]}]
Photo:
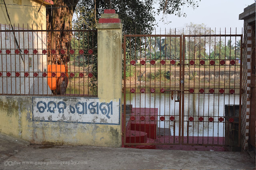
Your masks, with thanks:
[{"label": "white painted sign with blue-grey lettering on the low wall", "polygon": [[32,121],[120,125],[120,100],[98,98],[32,97]]}]

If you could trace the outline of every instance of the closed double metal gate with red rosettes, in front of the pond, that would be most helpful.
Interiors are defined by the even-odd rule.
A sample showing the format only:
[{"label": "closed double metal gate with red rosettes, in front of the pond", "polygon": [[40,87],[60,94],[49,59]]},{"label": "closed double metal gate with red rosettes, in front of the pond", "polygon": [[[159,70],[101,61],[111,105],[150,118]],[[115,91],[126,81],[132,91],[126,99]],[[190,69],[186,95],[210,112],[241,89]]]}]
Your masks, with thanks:
[{"label": "closed double metal gate with red rosettes, in front of the pond", "polygon": [[124,146],[239,147],[239,41],[240,34],[124,35]]}]

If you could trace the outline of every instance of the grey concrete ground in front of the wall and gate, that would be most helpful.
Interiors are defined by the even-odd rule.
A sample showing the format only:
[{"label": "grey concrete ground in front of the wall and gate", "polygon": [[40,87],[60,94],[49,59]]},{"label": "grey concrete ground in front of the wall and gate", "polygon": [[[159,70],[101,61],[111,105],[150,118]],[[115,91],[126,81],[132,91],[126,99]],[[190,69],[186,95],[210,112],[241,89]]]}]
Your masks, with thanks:
[{"label": "grey concrete ground in front of the wall and gate", "polygon": [[248,152],[30,145],[0,133],[0,169],[255,169],[254,156]]}]

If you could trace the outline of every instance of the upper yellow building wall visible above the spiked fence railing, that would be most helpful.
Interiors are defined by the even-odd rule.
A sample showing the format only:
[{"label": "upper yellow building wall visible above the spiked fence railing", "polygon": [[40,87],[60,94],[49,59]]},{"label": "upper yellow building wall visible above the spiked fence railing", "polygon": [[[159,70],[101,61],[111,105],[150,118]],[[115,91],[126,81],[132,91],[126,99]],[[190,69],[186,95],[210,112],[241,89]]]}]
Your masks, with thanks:
[{"label": "upper yellow building wall visible above the spiked fence railing", "polygon": [[[4,1],[0,0],[0,24],[10,24],[3,3]],[[6,7],[12,26],[15,28],[18,28],[18,24],[20,24],[20,28],[23,28],[24,24],[24,29],[31,30],[33,25],[33,30],[46,30],[46,7],[44,4],[38,12],[41,3],[33,0],[5,0],[5,3],[12,4],[6,5]]]}]

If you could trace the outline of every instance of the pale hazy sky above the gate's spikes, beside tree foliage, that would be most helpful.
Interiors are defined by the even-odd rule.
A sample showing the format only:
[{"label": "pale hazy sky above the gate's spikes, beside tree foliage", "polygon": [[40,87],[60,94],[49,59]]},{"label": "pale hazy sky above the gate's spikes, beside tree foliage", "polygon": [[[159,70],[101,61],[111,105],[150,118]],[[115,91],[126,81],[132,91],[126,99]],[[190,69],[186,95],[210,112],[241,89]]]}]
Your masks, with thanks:
[{"label": "pale hazy sky above the gate's spikes, beside tree foliage", "polygon": [[[237,28],[237,34],[241,34],[244,20],[238,20],[239,14],[254,2],[254,0],[201,0],[196,9],[191,7],[182,9],[186,13],[186,17],[168,15],[164,21],[160,21],[163,15],[156,15],[156,21],[158,21],[156,32],[159,32],[160,28],[161,30],[180,28],[184,27],[186,23],[193,22],[194,24],[204,23],[211,29],[216,28],[218,30],[216,33],[219,33],[220,28],[221,32],[224,33],[226,27],[229,33],[230,28],[232,33],[235,33]],[[184,28],[186,29],[186,27]]]}]

